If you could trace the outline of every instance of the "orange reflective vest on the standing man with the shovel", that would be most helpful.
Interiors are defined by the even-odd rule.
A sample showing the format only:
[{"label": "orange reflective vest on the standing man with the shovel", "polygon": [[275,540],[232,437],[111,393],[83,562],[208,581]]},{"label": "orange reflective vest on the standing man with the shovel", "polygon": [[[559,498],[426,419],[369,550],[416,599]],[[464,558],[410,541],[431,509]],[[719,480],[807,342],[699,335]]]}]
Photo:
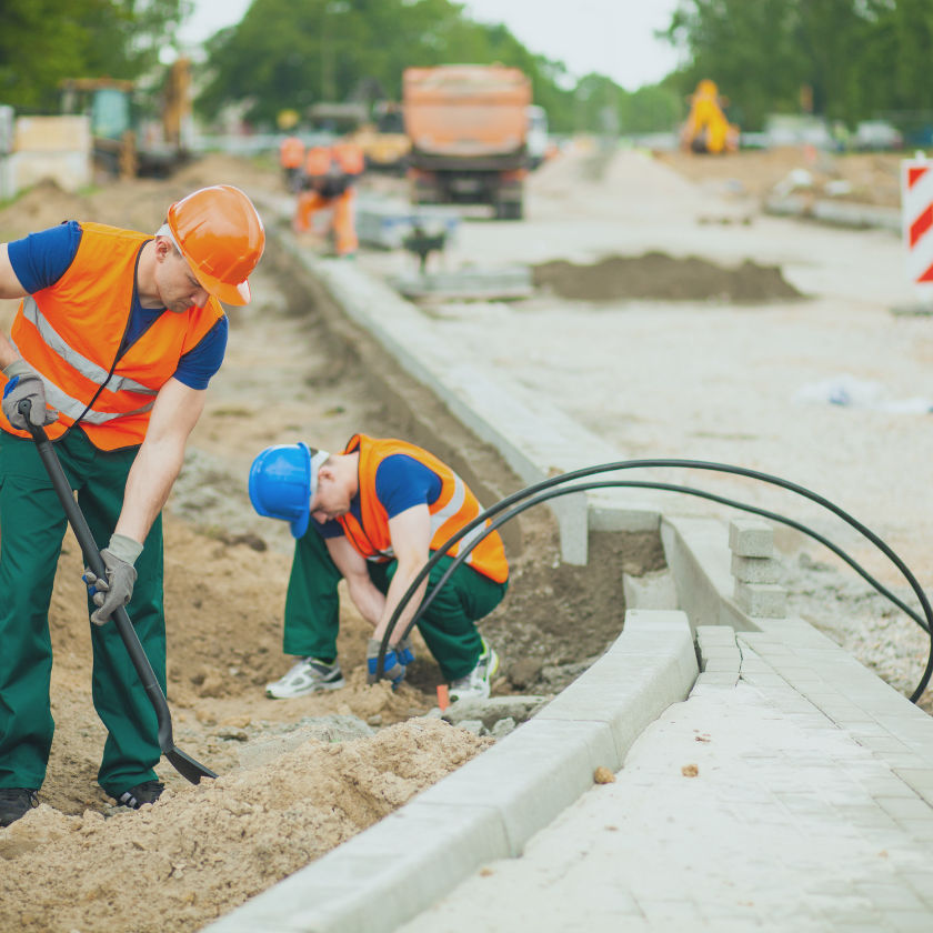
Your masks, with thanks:
[{"label": "orange reflective vest on the standing man with the shovel", "polygon": [[[210,298],[203,308],[164,311],[118,360],[138,255],[152,238],[100,223],[82,223],[81,230],[71,265],[53,285],[20,302],[10,335],[59,411],[59,420],[46,429],[52,440],[80,421],[100,450],[133,447],[146,437],[159,390],[223,309]],[[31,437],[2,413],[0,428]]]}]

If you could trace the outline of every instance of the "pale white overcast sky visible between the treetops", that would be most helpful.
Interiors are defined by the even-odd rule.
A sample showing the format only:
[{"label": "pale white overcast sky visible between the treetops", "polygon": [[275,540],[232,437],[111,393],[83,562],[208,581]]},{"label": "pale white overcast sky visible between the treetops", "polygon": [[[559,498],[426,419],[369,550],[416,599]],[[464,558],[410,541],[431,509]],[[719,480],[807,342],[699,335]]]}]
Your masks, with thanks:
[{"label": "pale white overcast sky visible between the treetops", "polygon": [[[297,0],[301,2],[301,0]],[[194,0],[181,31],[200,42],[242,19],[251,0]],[[504,22],[529,50],[564,62],[575,78],[608,74],[633,91],[661,80],[678,64],[674,50],[654,38],[678,0],[465,0],[466,13],[481,22]]]}]

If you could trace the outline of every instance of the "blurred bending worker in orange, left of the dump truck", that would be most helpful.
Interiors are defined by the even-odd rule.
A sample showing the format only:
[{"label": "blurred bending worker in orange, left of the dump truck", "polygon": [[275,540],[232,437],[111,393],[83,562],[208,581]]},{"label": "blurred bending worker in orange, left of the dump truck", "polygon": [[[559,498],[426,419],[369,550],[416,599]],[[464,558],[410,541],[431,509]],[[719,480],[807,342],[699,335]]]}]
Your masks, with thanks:
[{"label": "blurred bending worker in orange, left of the dump truck", "polygon": [[357,252],[353,217],[353,184],[364,168],[363,152],[353,142],[311,147],[304,157],[304,189],[298,197],[294,229],[305,233],[313,227],[318,211],[329,210],[330,230],[338,255],[352,257]]}]

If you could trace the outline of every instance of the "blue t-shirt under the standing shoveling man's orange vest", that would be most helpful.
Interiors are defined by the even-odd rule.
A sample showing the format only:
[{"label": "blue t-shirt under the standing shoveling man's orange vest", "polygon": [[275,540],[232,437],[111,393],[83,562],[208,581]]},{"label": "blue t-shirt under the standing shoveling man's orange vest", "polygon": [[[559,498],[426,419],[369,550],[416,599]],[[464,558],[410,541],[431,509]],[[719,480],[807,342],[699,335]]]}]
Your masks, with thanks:
[{"label": "blue t-shirt under the standing shoveling man's orange vest", "polygon": [[[20,284],[34,294],[53,285],[66,272],[78,252],[81,242],[81,225],[69,220],[58,227],[50,227],[39,233],[30,233],[22,240],[8,244],[10,264]],[[137,341],[159,317],[164,308],[143,308],[133,288],[133,303],[130,322],[118,357]],[[211,377],[220,369],[227,350],[228,323],[224,314],[179,361],[174,378],[191,389],[207,389]]]}]

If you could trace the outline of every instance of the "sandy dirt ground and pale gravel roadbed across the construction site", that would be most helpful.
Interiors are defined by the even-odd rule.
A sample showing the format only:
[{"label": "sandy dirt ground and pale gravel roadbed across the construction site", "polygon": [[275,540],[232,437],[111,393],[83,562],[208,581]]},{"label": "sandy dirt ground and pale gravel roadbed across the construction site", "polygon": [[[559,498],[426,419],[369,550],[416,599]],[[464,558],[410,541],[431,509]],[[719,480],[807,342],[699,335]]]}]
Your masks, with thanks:
[{"label": "sandy dirt ground and pale gravel roadbed across the construction site", "polygon": [[[532,178],[526,221],[476,215],[443,257],[429,260],[444,268],[530,263],[535,294],[425,304],[425,327],[504,374],[516,393],[578,419],[620,458],[738,463],[831,495],[925,582],[931,442],[921,397],[933,354],[929,319],[891,313],[914,295],[890,233],[761,214],[759,197],[771,179],[812,165],[804,152],[783,153],[780,164],[766,156],[652,161],[642,153],[565,153]],[[895,157],[863,158],[896,179]],[[836,162],[834,171],[844,174],[847,160]],[[302,439],[339,449],[358,430],[414,435],[472,464],[486,495],[521,485],[290,264],[275,241],[291,234],[274,165],[208,157],[165,182],[121,182],[81,195],[41,185],[0,211],[0,241],[69,218],[154,230],[172,200],[215,182],[239,184],[258,203],[285,204],[284,219],[268,218],[275,235],[254,278],[255,300],[230,309],[228,358],[165,516],[175,740],[222,776],[194,787],[163,763],[169,792],[134,814],[113,815],[96,787],[103,733],[90,703],[81,562],[69,536],[51,613],[57,732],[42,806],[0,831],[0,857],[9,863],[0,881],[4,929],[200,929],[491,743],[418,718],[434,704],[439,681],[423,650],[412,682],[397,693],[368,686],[360,666],[364,624],[349,606],[340,643],[348,686],[285,703],[263,696],[262,685],[289,663],[281,618],[290,539],[283,524],[259,519],[245,494],[249,463],[262,447]],[[387,277],[417,265],[402,252],[365,250],[357,262]],[[563,279],[561,262],[575,267]],[[674,292],[684,263],[692,263],[690,274]],[[576,291],[566,297],[561,281]],[[9,303],[0,309],[4,327],[13,311]],[[841,377],[873,394],[831,404],[819,388]],[[830,528],[812,509],[778,505],[749,484],[688,479]],[[706,511],[680,501],[672,508]],[[904,592],[870,549],[832,530]],[[588,568],[561,566],[543,512],[529,515],[509,542],[511,592],[484,623],[503,655],[494,692],[553,692],[618,634],[621,570],[656,569],[659,545],[651,536],[595,541]],[[909,691],[925,658],[913,623],[801,536],[787,533],[779,544],[795,610]],[[328,714],[357,716],[374,734],[283,753],[270,746],[307,718]]]}]

